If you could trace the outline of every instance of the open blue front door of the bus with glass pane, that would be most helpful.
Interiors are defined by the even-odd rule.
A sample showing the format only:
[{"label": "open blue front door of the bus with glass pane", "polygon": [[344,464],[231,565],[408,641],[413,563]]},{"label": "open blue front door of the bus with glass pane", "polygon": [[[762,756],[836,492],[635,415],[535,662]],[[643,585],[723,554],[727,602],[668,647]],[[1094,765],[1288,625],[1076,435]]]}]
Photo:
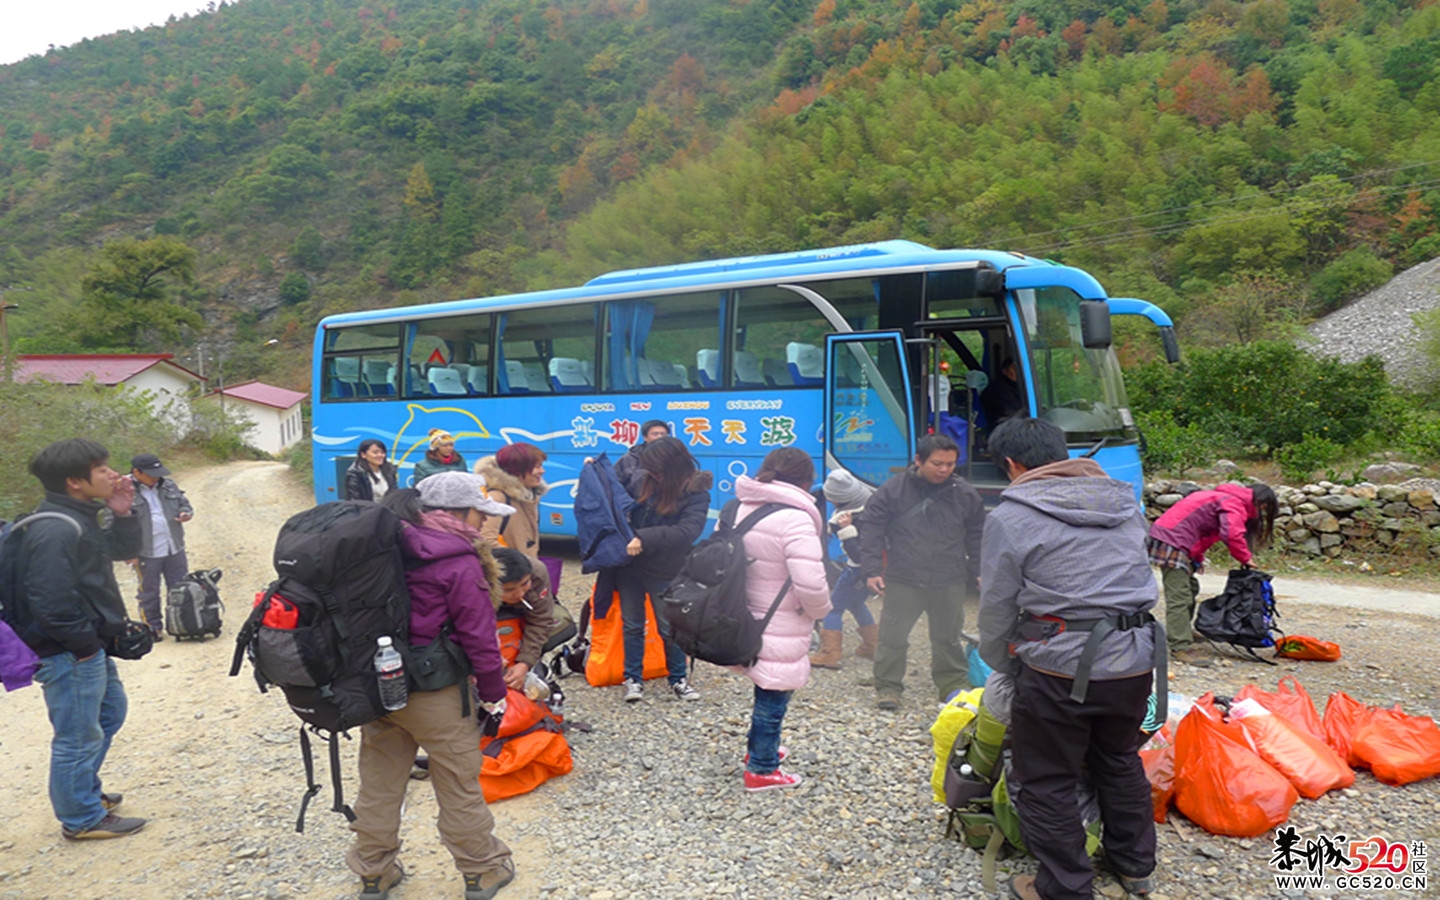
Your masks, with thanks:
[{"label": "open blue front door of the bus with glass pane", "polygon": [[871,485],[914,458],[914,408],[904,336],[825,337],[825,474],[848,469]]}]

